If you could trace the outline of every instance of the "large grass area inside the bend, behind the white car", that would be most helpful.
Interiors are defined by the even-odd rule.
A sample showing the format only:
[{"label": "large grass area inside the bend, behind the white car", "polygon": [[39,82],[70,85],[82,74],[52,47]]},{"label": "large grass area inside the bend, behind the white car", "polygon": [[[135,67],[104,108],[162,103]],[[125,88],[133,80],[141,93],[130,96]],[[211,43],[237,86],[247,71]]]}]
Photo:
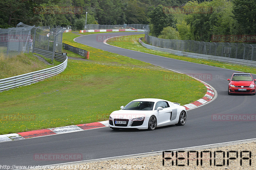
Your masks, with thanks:
[{"label": "large grass area inside the bend, behind the white car", "polygon": [[57,76],[0,93],[0,134],[107,120],[137,98],[183,105],[206,92],[186,75],[78,44],[73,41],[77,36],[65,33],[63,42],[90,51],[91,61],[68,60]]}]

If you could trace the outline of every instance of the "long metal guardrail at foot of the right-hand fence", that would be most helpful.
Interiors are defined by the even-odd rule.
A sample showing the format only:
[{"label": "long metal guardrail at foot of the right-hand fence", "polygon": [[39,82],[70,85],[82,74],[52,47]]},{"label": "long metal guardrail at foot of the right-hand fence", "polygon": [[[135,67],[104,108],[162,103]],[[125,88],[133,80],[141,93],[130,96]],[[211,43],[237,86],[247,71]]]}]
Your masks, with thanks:
[{"label": "long metal guardrail at foot of the right-hand fence", "polygon": [[160,48],[160,47],[145,44],[144,42],[141,41],[141,39],[142,38],[139,39],[140,44],[142,46],[144,46],[148,49],[152,49],[152,50],[163,51],[163,52],[172,53],[175,55],[180,55],[180,56],[185,56],[185,57],[214,60],[214,61],[221,61],[221,62],[227,62],[227,63],[232,63],[232,64],[241,64],[241,65],[245,65],[245,66],[256,67],[256,61],[234,59],[234,58],[228,58],[228,57],[219,57],[219,56],[197,54],[197,53],[189,53],[189,52],[177,51],[177,50],[172,50],[172,49],[167,49],[167,48]]}]

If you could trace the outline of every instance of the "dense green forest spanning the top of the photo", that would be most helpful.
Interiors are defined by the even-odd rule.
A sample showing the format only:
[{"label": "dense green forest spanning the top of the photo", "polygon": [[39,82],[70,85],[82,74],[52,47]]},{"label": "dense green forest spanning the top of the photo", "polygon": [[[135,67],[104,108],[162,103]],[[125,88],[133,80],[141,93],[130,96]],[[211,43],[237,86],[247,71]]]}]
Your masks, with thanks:
[{"label": "dense green forest spanning the top of the photo", "polygon": [[[71,25],[79,30],[84,28],[85,20],[87,24],[101,25],[149,24],[150,35],[163,39],[241,42],[241,36],[230,35],[246,35],[248,42],[256,41],[255,0],[0,1],[0,28],[23,22],[36,26]],[[220,39],[220,35],[226,37]]]}]

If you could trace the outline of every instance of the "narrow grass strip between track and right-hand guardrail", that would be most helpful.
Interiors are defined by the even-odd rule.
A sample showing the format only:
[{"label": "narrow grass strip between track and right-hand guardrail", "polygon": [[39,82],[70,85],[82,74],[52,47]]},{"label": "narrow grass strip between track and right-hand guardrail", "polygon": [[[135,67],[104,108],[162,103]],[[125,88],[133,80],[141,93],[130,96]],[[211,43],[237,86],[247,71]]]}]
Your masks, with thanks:
[{"label": "narrow grass strip between track and right-hand guardrail", "polygon": [[238,64],[230,64],[230,63],[213,61],[213,60],[204,60],[204,59],[183,57],[183,56],[178,56],[178,55],[174,55],[174,54],[170,54],[170,53],[166,53],[166,52],[162,52],[162,51],[147,49],[139,43],[138,39],[140,37],[143,37],[143,35],[131,35],[131,36],[116,37],[116,38],[109,39],[108,44],[113,45],[113,46],[119,46],[119,47],[126,48],[126,49],[135,50],[135,51],[140,51],[140,52],[144,52],[144,53],[150,53],[150,54],[160,55],[160,56],[164,56],[164,57],[169,57],[169,58],[173,58],[173,59],[184,60],[184,61],[189,61],[189,62],[193,62],[193,63],[205,64],[205,65],[209,65],[209,66],[227,68],[227,69],[231,69],[231,70],[236,70],[236,71],[241,71],[241,72],[250,72],[250,73],[256,74],[255,67],[243,66],[243,65],[238,65]]}]

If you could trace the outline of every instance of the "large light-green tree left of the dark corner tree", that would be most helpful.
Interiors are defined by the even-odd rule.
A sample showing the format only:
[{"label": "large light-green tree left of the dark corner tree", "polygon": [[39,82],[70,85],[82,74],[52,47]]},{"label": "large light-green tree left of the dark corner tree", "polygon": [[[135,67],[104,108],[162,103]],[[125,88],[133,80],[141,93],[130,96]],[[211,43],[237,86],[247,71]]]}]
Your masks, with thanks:
[{"label": "large light-green tree left of the dark corner tree", "polygon": [[184,9],[190,9],[185,21],[190,26],[193,40],[209,42],[212,35],[229,35],[234,24],[232,3],[229,0],[211,2],[190,1]]}]

